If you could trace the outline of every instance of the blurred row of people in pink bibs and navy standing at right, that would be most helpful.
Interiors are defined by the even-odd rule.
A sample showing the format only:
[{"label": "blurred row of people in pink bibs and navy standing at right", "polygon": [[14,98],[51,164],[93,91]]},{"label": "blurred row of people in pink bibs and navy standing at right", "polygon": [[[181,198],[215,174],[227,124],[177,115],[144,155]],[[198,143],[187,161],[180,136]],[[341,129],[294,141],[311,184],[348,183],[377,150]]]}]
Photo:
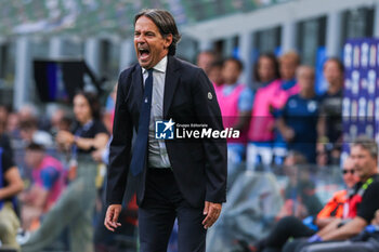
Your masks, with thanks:
[{"label": "blurred row of people in pink bibs and navy standing at right", "polygon": [[198,55],[213,82],[224,127],[240,131],[238,140],[228,140],[231,173],[245,159],[251,170],[282,165],[289,151],[302,154],[309,163],[340,163],[343,65],[338,58],[324,63],[328,87],[316,94],[315,69],[300,62],[296,52],[262,54],[254,64],[253,87],[247,87],[238,81],[244,70],[239,59],[220,59],[213,52]]}]

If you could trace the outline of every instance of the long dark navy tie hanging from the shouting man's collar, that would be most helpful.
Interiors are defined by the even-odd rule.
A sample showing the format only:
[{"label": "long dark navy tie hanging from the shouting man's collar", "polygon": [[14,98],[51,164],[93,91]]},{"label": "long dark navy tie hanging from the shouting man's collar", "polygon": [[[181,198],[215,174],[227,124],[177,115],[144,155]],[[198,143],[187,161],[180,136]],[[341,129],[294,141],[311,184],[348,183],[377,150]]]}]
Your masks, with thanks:
[{"label": "long dark navy tie hanging from the shouting man's collar", "polygon": [[153,94],[153,68],[147,70],[148,77],[145,81],[143,103],[140,109],[139,130],[134,142],[130,169],[134,176],[143,171],[146,160],[146,148],[148,143],[148,124],[151,121],[152,94]]}]

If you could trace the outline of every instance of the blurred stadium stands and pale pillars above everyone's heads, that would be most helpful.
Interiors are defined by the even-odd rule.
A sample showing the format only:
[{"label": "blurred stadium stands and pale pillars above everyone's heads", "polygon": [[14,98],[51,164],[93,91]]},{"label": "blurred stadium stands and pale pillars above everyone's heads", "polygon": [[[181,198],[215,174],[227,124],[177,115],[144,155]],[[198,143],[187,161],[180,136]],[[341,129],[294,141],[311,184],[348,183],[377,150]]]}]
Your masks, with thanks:
[{"label": "blurred stadium stands and pale pillars above everyone's heads", "polygon": [[133,16],[143,8],[169,10],[183,39],[179,55],[195,62],[213,49],[245,63],[251,84],[259,53],[296,50],[317,68],[317,90],[326,56],[341,56],[349,38],[379,36],[377,0],[1,0],[0,97],[15,108],[38,103],[34,58],[81,57],[112,83],[135,61]]}]

